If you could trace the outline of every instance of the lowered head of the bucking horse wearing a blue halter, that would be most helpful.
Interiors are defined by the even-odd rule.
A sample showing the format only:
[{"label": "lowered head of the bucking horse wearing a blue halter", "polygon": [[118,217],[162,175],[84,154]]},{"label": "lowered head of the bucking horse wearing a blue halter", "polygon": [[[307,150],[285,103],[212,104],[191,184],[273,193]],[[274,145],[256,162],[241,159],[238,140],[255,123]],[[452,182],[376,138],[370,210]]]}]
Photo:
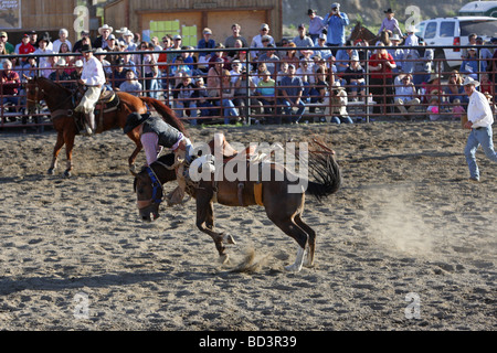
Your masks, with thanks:
[{"label": "lowered head of the bucking horse wearing a blue halter", "polygon": [[159,217],[159,206],[163,199],[162,185],[176,180],[176,171],[170,169],[173,163],[175,154],[170,153],[136,174],[134,189],[141,221],[154,222]]}]

